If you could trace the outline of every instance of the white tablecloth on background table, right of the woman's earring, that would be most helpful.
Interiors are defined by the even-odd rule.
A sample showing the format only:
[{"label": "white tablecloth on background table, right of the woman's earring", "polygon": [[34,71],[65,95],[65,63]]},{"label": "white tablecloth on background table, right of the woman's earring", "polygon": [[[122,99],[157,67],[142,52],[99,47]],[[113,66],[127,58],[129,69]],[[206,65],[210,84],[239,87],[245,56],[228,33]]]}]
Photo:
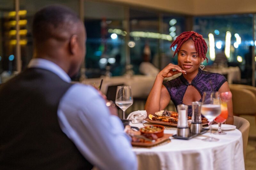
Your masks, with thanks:
[{"label": "white tablecloth on background table, right of the woman's earring", "polygon": [[239,67],[223,67],[223,68],[206,68],[207,71],[212,73],[220,73],[228,75],[228,83],[232,84],[234,80],[241,80],[241,71]]}]

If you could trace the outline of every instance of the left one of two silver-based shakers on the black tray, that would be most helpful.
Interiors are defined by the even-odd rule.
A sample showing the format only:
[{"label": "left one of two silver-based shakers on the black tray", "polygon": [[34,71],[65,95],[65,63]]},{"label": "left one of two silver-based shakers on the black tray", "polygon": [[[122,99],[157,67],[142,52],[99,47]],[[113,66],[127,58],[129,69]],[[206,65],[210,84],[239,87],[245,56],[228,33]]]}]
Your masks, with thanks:
[{"label": "left one of two silver-based shakers on the black tray", "polygon": [[177,124],[177,136],[188,137],[188,106],[181,104],[177,106],[179,113],[178,124]]}]

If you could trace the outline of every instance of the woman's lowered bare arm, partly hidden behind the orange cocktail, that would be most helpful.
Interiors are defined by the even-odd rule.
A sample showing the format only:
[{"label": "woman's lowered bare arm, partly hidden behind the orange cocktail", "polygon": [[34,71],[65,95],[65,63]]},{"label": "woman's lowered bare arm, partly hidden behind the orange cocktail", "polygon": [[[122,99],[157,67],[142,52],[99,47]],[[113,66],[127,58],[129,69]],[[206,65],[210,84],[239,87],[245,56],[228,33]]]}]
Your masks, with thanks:
[{"label": "woman's lowered bare arm, partly hidden behind the orange cocktail", "polygon": [[[228,92],[230,91],[229,86],[228,86],[228,82],[223,83],[223,85],[221,85],[219,92]],[[228,119],[226,120],[226,124],[231,124],[233,125],[234,123],[234,117],[233,117],[233,103],[232,103],[232,99],[230,99],[228,102]]]}]

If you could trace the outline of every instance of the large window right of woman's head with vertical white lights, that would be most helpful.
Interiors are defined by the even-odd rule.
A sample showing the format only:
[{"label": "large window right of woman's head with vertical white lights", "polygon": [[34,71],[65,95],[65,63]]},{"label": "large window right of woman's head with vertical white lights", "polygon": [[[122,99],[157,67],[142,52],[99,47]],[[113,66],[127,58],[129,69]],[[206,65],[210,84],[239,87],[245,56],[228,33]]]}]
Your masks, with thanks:
[{"label": "large window right of woman's head with vertical white lights", "polygon": [[[244,79],[248,80],[252,77],[252,51],[250,51],[250,46],[254,45],[252,14],[195,17],[194,30],[202,34],[208,44],[208,35],[212,33],[215,56],[223,50],[228,59],[228,66],[239,66]],[[207,57],[210,58],[209,52]],[[217,61],[218,58],[211,59],[208,65],[218,66],[215,65]]]}]

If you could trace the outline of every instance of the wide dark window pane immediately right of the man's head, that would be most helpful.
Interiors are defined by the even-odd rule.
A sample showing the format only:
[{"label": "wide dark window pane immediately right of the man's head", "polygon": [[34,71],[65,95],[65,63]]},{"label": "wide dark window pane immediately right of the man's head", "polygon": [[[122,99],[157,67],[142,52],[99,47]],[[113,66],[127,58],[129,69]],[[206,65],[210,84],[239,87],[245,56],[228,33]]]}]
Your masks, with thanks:
[{"label": "wide dark window pane immediately right of the man's head", "polygon": [[100,77],[108,73],[106,69],[112,76],[124,74],[124,7],[85,1],[84,23],[87,32],[86,76]]}]

